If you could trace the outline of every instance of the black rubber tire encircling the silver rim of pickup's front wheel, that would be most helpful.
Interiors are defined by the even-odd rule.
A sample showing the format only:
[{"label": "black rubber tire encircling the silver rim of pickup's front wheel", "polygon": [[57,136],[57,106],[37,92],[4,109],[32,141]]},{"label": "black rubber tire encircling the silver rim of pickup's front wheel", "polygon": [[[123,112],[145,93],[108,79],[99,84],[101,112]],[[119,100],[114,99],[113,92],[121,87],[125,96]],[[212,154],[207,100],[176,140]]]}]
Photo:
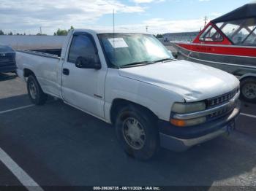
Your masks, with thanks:
[{"label": "black rubber tire encircling the silver rim of pickup's front wheel", "polygon": [[[118,111],[115,124],[116,135],[121,147],[129,156],[138,160],[149,160],[156,155],[159,150],[159,130],[157,129],[157,120],[155,118],[153,114],[146,109],[140,108],[140,106],[125,106]],[[144,138],[143,146],[140,145],[141,148],[132,147],[127,141],[127,136],[124,136],[124,122],[131,119],[137,120],[140,128],[143,128],[143,136],[145,137],[140,136],[140,138]]]}]

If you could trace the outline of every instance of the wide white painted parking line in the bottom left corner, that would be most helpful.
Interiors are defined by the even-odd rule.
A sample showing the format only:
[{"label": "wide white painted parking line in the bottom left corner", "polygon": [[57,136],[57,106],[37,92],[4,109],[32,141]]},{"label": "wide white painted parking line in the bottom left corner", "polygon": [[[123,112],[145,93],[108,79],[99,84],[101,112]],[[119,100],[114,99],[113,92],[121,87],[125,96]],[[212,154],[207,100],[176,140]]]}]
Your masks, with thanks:
[{"label": "wide white painted parking line in the bottom left corner", "polygon": [[0,148],[0,161],[4,163],[4,165],[7,166],[7,168],[16,176],[16,178],[20,181],[21,184],[23,184],[24,187],[26,187],[29,191],[36,190],[36,191],[43,191],[42,187],[40,187],[37,182],[34,182],[34,180],[29,176],[29,174],[26,174],[25,171],[23,171],[20,166],[15,163],[12,158],[7,155],[6,152],[4,152],[3,149]]}]

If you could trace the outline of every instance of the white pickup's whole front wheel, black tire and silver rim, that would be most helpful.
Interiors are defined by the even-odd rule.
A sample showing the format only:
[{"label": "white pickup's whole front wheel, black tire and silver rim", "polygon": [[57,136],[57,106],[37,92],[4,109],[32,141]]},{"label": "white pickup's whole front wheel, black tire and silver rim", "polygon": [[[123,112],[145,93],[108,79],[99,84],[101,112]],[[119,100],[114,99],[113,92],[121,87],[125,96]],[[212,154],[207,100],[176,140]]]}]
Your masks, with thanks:
[{"label": "white pickup's whole front wheel, black tire and silver rim", "polygon": [[154,117],[145,109],[127,106],[119,111],[116,134],[124,151],[139,160],[148,160],[159,149],[159,132]]}]

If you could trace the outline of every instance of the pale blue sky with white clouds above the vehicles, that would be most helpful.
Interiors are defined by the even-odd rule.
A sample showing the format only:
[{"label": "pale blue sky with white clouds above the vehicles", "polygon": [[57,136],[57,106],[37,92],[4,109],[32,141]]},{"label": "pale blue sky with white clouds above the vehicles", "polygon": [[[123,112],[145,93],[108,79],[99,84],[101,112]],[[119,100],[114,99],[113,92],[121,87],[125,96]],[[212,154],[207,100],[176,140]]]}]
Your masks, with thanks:
[{"label": "pale blue sky with white clouds above the vehicles", "polygon": [[252,0],[0,0],[0,29],[53,34],[58,28],[116,28],[152,34],[199,31],[209,20]]}]

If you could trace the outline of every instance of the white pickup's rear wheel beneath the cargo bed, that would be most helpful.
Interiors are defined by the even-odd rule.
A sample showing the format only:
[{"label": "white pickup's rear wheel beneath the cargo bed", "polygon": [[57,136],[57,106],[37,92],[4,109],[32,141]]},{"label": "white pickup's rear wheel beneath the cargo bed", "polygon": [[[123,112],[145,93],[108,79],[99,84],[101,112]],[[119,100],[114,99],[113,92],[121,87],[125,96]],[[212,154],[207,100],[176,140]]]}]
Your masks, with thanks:
[{"label": "white pickup's rear wheel beneath the cargo bed", "polygon": [[34,75],[29,76],[26,85],[31,102],[36,105],[45,104],[45,101],[47,100],[48,96],[47,94],[42,92],[42,88],[40,87]]}]

